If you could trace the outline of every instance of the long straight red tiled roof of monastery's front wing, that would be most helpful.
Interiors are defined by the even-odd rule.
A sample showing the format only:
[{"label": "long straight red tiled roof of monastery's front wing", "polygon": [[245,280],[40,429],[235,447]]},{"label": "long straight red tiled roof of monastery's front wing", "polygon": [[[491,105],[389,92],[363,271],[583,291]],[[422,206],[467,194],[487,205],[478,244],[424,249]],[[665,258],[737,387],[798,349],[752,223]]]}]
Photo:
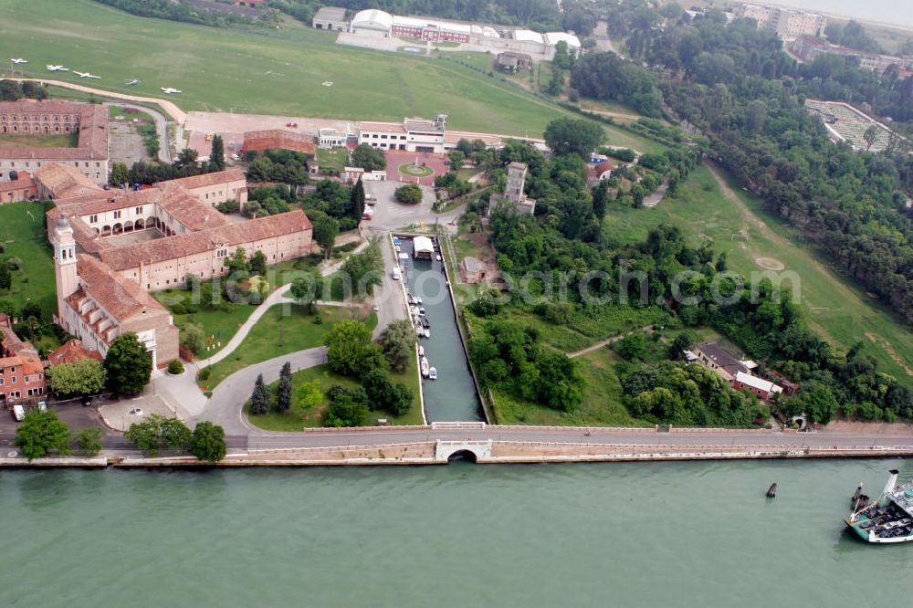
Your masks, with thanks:
[{"label": "long straight red tiled roof of monastery's front wing", "polygon": [[119,247],[100,252],[103,262],[114,270],[125,270],[143,264],[155,264],[176,257],[192,256],[215,249],[216,246],[235,246],[274,236],[309,230],[308,216],[300,209],[287,214],[270,215],[228,224],[186,235],[167,236],[154,241]]}]

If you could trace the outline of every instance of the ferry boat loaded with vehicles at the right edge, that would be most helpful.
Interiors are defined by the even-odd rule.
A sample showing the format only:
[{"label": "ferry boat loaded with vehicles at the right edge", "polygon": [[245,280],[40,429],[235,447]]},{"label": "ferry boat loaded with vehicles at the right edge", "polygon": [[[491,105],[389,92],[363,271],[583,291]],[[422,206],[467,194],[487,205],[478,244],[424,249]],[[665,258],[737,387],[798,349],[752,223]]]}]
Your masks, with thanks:
[{"label": "ferry boat loaded with vehicles at the right edge", "polygon": [[897,485],[897,469],[889,471],[881,496],[869,502],[856,488],[853,510],[846,525],[867,542],[888,543],[913,540],[913,479]]}]

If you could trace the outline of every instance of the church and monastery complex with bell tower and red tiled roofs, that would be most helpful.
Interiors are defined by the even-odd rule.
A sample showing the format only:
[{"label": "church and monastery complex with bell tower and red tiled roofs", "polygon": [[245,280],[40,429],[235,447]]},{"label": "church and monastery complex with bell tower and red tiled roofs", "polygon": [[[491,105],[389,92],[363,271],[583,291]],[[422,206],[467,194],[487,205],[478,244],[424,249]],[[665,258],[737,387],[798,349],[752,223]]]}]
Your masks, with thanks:
[{"label": "church and monastery complex with bell tower and red tiled roofs", "polygon": [[[310,220],[300,210],[246,221],[222,215],[216,204],[247,201],[244,173],[208,173],[138,191],[101,190],[69,170],[47,186],[57,206],[47,212],[54,246],[57,322],[85,348],[104,357],[111,341],[132,331],[155,367],[178,357],[171,314],[149,292],[226,273],[238,248],[268,263],[310,252]],[[37,174],[39,184],[42,176]],[[46,187],[46,186],[42,186]]]}]

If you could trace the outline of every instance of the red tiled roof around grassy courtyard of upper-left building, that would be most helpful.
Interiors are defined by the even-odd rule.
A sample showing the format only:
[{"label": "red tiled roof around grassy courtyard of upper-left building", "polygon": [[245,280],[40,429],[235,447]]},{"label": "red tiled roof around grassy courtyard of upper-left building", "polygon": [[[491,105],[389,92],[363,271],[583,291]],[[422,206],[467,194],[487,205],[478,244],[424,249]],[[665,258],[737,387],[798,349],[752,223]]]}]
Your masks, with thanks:
[{"label": "red tiled roof around grassy courtyard of upper-left building", "polygon": [[[3,115],[79,115],[79,144],[76,148],[36,148],[10,146],[0,148],[0,158],[35,158],[59,161],[108,160],[108,109],[100,104],[67,101],[0,102]],[[43,121],[42,121],[43,122]],[[53,124],[48,121],[48,124]]]}]

